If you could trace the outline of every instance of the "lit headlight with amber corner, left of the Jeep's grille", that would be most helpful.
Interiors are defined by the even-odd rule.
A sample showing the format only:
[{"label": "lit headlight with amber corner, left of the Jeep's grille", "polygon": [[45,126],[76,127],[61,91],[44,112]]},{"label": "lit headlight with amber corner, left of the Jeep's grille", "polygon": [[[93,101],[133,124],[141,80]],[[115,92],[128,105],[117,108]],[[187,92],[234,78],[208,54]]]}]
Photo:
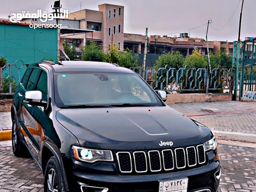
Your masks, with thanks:
[{"label": "lit headlight with amber corner, left of the Jeep's grille", "polygon": [[86,149],[78,146],[72,146],[72,150],[77,160],[90,163],[96,161],[114,161],[112,152],[109,150]]}]

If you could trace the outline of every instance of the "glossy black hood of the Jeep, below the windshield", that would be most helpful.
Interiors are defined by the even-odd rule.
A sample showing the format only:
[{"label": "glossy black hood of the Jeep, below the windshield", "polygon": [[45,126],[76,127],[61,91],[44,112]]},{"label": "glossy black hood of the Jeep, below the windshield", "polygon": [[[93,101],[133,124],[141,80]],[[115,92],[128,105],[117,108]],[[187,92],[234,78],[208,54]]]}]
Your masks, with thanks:
[{"label": "glossy black hood of the Jeep, below the windshield", "polygon": [[91,148],[168,147],[160,146],[160,141],[188,146],[212,137],[210,129],[169,106],[62,109],[56,118],[81,146]]}]

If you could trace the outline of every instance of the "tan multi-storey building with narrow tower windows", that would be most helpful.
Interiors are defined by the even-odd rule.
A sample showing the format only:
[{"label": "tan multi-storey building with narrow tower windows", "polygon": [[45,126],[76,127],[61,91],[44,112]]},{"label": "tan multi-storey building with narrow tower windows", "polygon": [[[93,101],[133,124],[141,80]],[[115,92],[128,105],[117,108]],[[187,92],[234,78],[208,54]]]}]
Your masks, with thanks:
[{"label": "tan multi-storey building with narrow tower windows", "polygon": [[62,35],[64,40],[81,42],[80,46],[90,40],[94,40],[103,50],[107,51],[107,46],[113,43],[119,45],[120,50],[124,48],[124,6],[101,4],[98,10],[83,9],[68,14],[68,19],[78,20],[80,29],[94,30],[90,34],[77,34],[71,36]]}]

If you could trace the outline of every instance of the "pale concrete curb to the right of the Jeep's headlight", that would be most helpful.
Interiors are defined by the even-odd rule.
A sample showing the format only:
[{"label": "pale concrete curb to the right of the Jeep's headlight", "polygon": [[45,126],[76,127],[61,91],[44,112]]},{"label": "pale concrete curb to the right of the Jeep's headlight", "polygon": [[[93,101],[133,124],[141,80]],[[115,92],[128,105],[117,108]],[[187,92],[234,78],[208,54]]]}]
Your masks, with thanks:
[{"label": "pale concrete curb to the right of the Jeep's headlight", "polygon": [[256,143],[256,134],[216,131],[216,130],[212,130],[212,133],[217,137],[217,139],[220,139],[220,140]]}]

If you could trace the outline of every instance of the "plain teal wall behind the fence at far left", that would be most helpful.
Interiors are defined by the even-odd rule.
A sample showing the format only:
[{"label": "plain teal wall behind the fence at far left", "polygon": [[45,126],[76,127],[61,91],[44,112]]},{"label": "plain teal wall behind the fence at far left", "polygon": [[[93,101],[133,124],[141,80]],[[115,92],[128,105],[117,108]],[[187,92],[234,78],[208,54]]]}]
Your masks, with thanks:
[{"label": "plain teal wall behind the fence at far left", "polygon": [[[24,24],[0,23],[0,56],[5,56],[8,63],[22,60],[30,64],[52,57],[57,60],[58,30],[50,28],[30,28]],[[17,61],[17,64],[20,62]],[[26,66],[21,68],[21,76]],[[9,67],[5,67],[3,75],[9,74]],[[12,75],[18,81],[18,68],[12,67]]]}]

